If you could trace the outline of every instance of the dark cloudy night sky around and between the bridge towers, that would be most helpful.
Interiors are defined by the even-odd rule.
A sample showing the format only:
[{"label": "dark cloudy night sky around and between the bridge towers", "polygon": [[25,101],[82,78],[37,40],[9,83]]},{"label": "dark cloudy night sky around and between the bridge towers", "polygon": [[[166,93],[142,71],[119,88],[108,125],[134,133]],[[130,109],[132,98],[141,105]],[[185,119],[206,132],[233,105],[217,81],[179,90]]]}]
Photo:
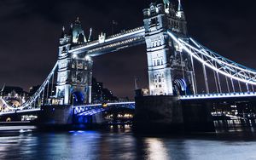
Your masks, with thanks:
[{"label": "dark cloudy night sky around and between the bridge towers", "polygon": [[[174,1],[174,0],[172,0]],[[76,17],[86,36],[143,26],[149,0],[0,0],[0,86],[28,90],[40,84],[55,65],[62,26]],[[176,2],[176,1],[175,1]],[[189,35],[208,48],[256,68],[256,1],[183,0]],[[148,86],[144,45],[93,58],[93,75],[113,94],[133,96],[134,77]],[[1,87],[0,87],[1,88]]]}]

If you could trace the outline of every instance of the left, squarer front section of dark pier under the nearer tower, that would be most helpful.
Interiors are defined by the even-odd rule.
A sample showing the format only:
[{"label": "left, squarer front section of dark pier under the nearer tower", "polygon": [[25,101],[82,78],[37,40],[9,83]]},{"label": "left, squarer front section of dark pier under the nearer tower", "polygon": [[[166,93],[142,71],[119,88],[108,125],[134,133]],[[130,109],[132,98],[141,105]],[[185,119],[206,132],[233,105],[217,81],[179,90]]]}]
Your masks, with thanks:
[{"label": "left, squarer front section of dark pier under the nearer tower", "polygon": [[183,130],[183,108],[175,96],[136,97],[137,131],[176,132]]}]

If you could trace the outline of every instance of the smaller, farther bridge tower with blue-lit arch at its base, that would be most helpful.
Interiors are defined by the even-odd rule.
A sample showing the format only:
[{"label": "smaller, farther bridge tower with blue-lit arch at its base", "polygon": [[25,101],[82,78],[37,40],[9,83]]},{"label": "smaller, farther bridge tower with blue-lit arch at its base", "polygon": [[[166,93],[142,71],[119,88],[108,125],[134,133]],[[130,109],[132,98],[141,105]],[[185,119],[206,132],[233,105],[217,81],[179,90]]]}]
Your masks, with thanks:
[{"label": "smaller, farther bridge tower with blue-lit arch at its base", "polygon": [[88,104],[91,100],[92,60],[84,54],[69,53],[71,47],[86,43],[79,18],[63,27],[58,56],[56,97],[61,105]]}]

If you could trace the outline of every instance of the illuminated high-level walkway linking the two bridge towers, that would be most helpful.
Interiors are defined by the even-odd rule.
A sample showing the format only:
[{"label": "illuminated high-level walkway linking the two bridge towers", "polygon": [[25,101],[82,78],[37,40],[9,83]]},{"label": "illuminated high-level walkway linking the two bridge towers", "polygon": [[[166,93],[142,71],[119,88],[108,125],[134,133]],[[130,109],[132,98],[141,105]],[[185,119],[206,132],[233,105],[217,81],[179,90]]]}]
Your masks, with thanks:
[{"label": "illuminated high-level walkway linking the two bridge towers", "polygon": [[91,57],[94,57],[142,43],[145,43],[145,29],[143,26],[106,37],[102,42],[96,40],[74,46],[68,52],[73,54],[87,53]]}]

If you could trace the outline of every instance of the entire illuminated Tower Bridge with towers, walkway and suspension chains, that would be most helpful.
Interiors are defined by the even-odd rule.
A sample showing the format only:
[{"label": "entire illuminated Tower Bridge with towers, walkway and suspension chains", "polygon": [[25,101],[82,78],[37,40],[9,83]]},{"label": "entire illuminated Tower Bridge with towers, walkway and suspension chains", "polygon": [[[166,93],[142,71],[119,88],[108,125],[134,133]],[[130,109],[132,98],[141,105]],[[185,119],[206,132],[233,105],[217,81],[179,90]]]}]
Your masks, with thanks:
[{"label": "entire illuminated Tower Bridge with towers, walkway and suspension chains", "polygon": [[[143,16],[144,26],[109,37],[101,33],[94,41],[90,39],[91,30],[90,37],[84,36],[79,19],[68,30],[63,27],[58,60],[49,76],[38,91],[20,107],[10,106],[1,97],[3,103],[0,116],[26,111],[50,112],[55,111],[58,106],[67,107],[67,110],[55,114],[66,114],[68,118],[68,114],[88,116],[104,111],[102,105],[91,104],[92,58],[143,43],[146,43],[148,59],[149,94],[137,97],[136,102],[128,102],[131,106],[136,103],[138,121],[148,121],[143,117],[153,113],[155,115],[149,117],[168,117],[163,118],[164,123],[195,121],[199,116],[205,117],[202,121],[208,121],[205,100],[256,97],[256,71],[224,58],[189,37],[180,0],[178,6],[169,1],[151,3],[148,9],[143,9]],[[195,74],[196,63],[201,65],[201,75]],[[209,77],[210,75],[213,77]],[[203,79],[204,92],[200,90],[199,77]],[[53,87],[54,83],[56,89]],[[213,87],[210,86],[211,83]],[[212,88],[215,89],[211,90]],[[52,94],[52,90],[56,94]],[[197,102],[189,104],[189,100]],[[180,106],[183,101],[185,105]],[[200,101],[204,102],[200,104]],[[253,101],[254,104],[256,102]],[[127,104],[122,102],[114,104],[125,105]],[[161,112],[161,109],[169,111],[168,115]],[[190,116],[189,112],[196,113],[194,117],[191,116],[192,120],[187,118]],[[195,122],[198,123],[198,119]]]}]

